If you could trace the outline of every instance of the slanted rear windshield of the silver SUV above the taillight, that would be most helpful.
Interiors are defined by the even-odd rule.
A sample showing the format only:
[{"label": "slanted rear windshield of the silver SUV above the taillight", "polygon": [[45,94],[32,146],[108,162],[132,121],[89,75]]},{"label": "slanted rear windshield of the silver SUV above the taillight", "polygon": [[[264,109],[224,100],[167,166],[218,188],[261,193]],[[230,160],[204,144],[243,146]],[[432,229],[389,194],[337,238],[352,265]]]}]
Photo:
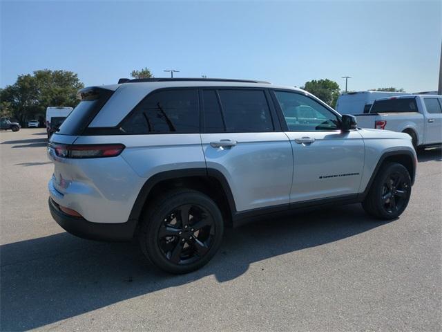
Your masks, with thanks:
[{"label": "slanted rear windshield of the silver SUV above the taillight", "polygon": [[111,97],[113,91],[106,89],[93,89],[86,91],[83,100],[70,112],[66,120],[61,124],[57,133],[61,135],[81,135],[90,121],[95,118],[98,111]]}]

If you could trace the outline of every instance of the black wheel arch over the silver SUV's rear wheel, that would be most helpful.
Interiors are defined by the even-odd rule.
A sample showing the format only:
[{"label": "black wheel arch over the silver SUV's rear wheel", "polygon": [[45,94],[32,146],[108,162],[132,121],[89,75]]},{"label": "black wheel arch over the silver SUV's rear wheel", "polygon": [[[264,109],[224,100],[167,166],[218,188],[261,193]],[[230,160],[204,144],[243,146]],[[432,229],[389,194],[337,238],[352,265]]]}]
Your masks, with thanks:
[{"label": "black wheel arch over the silver SUV's rear wheel", "polygon": [[138,193],[129,219],[140,221],[142,212],[158,192],[175,187],[188,187],[203,192],[217,203],[224,219],[231,223],[236,205],[229,183],[217,169],[206,168],[175,169],[151,176]]}]

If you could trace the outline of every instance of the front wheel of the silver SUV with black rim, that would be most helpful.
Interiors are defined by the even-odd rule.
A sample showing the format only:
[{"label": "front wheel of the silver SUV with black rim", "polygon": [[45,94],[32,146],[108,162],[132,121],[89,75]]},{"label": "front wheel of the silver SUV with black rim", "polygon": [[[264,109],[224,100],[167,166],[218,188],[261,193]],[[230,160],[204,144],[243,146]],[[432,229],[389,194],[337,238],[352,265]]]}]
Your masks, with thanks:
[{"label": "front wheel of the silver SUV with black rim", "polygon": [[378,219],[396,219],[407,208],[412,181],[407,169],[398,163],[385,163],[379,170],[362,206]]}]

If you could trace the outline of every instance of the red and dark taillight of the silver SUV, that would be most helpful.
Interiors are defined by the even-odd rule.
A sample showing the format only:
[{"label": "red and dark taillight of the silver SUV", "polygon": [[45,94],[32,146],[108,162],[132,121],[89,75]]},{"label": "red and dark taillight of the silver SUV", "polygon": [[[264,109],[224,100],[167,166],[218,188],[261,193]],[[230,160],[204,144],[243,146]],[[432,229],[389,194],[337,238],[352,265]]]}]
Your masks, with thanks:
[{"label": "red and dark taillight of the silver SUV", "polygon": [[115,157],[122,153],[122,144],[105,145],[63,145],[53,144],[57,157],[61,158],[104,158]]}]

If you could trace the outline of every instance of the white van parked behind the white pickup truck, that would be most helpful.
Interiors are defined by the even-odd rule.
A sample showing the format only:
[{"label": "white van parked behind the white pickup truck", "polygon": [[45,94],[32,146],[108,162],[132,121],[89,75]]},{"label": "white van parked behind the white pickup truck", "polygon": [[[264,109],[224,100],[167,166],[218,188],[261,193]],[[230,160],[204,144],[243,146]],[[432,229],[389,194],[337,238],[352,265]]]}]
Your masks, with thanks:
[{"label": "white van parked behind the white pickup truck", "polygon": [[394,95],[410,95],[405,92],[387,92],[387,91],[357,91],[349,92],[338,97],[336,102],[336,111],[340,114],[361,114],[368,113],[374,100]]}]

